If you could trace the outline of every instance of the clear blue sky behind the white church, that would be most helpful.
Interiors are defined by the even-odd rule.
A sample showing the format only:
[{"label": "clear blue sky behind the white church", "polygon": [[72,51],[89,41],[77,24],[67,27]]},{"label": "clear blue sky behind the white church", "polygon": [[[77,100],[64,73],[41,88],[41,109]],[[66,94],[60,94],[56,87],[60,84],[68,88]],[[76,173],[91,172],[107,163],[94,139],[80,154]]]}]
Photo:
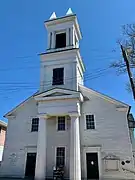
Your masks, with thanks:
[{"label": "clear blue sky behind the white church", "polygon": [[[39,87],[39,56],[47,45],[44,20],[53,11],[77,14],[86,65],[85,85],[133,106],[127,75],[107,69],[121,58],[116,41],[121,26],[135,22],[134,0],[1,0],[0,1],[0,119]],[[105,70],[104,70],[105,69]],[[135,113],[135,108],[132,108]]]}]

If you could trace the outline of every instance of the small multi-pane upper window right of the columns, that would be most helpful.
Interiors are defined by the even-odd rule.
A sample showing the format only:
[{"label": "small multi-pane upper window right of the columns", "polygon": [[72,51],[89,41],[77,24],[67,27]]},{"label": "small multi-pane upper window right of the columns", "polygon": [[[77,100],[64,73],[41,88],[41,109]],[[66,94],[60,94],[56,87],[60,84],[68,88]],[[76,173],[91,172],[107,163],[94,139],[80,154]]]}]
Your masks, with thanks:
[{"label": "small multi-pane upper window right of the columns", "polygon": [[86,115],[86,129],[95,129],[94,115]]}]

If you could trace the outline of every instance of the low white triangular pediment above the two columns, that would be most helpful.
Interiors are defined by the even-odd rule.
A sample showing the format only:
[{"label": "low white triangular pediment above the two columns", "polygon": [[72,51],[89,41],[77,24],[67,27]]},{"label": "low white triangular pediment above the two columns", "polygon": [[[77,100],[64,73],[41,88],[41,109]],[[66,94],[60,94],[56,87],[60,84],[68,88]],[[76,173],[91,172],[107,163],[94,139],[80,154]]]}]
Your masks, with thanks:
[{"label": "low white triangular pediment above the two columns", "polygon": [[55,88],[55,89],[51,89],[49,91],[37,94],[35,96],[35,99],[36,100],[52,100],[52,99],[62,99],[62,98],[68,99],[68,98],[74,98],[74,97],[79,98],[80,94],[81,93],[78,91]]}]

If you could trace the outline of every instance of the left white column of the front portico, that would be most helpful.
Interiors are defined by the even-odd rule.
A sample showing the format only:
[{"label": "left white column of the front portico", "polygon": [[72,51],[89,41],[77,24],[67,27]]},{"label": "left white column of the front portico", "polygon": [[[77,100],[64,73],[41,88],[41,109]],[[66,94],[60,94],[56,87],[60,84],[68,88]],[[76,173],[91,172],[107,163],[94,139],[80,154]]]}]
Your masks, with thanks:
[{"label": "left white column of the front portico", "polygon": [[39,118],[37,158],[35,179],[43,180],[46,176],[46,118]]}]

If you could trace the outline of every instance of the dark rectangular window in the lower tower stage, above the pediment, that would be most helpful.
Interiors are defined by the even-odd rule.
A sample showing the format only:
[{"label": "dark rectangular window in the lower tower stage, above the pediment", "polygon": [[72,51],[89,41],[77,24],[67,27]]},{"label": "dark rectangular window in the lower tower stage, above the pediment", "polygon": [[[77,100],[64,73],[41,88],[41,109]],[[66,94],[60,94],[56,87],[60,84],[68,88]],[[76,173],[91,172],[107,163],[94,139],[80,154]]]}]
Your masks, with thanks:
[{"label": "dark rectangular window in the lower tower stage, above the pediment", "polygon": [[64,84],[64,68],[53,69],[53,82],[52,85]]}]

